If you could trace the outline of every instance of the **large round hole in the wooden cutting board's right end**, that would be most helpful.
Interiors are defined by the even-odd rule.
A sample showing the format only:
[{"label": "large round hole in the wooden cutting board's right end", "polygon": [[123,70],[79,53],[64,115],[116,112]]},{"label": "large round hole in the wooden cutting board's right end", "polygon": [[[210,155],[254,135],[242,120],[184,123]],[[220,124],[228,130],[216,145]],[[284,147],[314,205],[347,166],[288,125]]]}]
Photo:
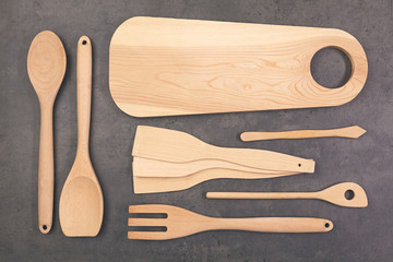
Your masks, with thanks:
[{"label": "large round hole in the wooden cutting board's right end", "polygon": [[337,48],[322,48],[311,59],[311,75],[323,87],[341,87],[348,82],[350,74],[350,60]]}]

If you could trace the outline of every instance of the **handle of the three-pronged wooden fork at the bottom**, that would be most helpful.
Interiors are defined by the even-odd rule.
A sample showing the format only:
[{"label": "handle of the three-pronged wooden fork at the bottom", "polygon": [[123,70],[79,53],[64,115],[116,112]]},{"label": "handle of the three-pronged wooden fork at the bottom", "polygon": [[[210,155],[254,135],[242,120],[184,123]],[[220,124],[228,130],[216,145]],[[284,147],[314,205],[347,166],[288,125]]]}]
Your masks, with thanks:
[{"label": "handle of the three-pronged wooden fork at the bottom", "polygon": [[246,230],[261,233],[325,233],[333,223],[313,217],[212,218],[209,230]]}]

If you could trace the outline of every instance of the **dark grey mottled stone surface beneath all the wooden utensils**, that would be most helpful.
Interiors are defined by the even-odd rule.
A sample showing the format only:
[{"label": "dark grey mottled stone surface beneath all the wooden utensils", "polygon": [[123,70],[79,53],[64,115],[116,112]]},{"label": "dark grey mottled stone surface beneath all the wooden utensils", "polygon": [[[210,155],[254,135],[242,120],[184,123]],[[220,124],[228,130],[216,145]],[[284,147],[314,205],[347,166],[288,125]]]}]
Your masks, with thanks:
[{"label": "dark grey mottled stone surface beneath all the wooden utensils", "polygon": [[[391,261],[393,257],[393,19],[392,1],[31,1],[0,2],[0,260],[1,261]],[[369,74],[364,91],[334,108],[136,119],[112,102],[109,41],[136,15],[336,27],[364,46]],[[26,72],[34,36],[50,29],[66,47],[68,68],[55,104],[53,227],[37,228],[39,106]],[[80,36],[94,50],[91,156],[105,198],[96,238],[67,238],[59,225],[61,188],[76,150],[75,56]],[[345,60],[327,50],[314,78],[338,85]],[[189,132],[222,146],[266,148],[317,162],[313,175],[279,179],[214,180],[171,193],[132,193],[131,150],[138,124]],[[329,129],[359,124],[359,140],[315,139],[242,143],[245,130]],[[342,181],[361,184],[367,209],[313,200],[205,200],[207,190],[313,191]],[[128,205],[165,203],[212,216],[315,216],[332,219],[327,234],[212,231],[169,241],[127,239]]]}]

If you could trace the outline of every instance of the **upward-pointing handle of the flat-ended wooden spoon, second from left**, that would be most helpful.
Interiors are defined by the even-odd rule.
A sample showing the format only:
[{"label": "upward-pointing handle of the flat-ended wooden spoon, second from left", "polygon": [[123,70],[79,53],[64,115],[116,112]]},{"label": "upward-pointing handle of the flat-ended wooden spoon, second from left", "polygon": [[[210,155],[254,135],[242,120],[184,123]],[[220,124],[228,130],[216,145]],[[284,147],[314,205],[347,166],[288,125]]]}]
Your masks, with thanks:
[{"label": "upward-pointing handle of the flat-ended wooden spoon, second from left", "polygon": [[76,86],[78,153],[87,154],[88,156],[92,104],[92,43],[87,36],[82,36],[78,41]]}]

